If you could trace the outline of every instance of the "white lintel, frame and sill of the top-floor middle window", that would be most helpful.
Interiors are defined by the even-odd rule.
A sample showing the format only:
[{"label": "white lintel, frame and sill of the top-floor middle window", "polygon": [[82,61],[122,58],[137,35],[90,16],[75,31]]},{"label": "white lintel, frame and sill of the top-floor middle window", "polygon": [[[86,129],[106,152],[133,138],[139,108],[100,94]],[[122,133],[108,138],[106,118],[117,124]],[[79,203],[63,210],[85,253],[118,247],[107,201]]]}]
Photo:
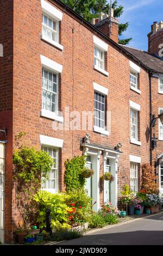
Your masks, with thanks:
[{"label": "white lintel, frame and sill of the top-floor middle window", "polygon": [[[105,76],[109,76],[109,72],[105,71],[105,52],[108,52],[108,44],[106,44],[103,40],[99,39],[97,36],[93,35],[93,42],[94,42],[94,69],[101,72]],[[103,53],[103,59],[99,59],[95,56],[95,49]],[[102,68],[95,65],[95,59],[98,59],[103,62]]]}]

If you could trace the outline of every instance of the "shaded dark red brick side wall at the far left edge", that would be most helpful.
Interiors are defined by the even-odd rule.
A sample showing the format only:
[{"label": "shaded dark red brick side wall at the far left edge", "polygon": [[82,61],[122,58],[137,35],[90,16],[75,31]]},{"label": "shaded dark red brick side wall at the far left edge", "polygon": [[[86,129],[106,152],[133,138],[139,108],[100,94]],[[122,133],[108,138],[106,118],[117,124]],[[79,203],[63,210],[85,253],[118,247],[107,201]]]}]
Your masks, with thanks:
[{"label": "shaded dark red brick side wall at the far left edge", "polygon": [[13,81],[13,1],[0,1],[0,127],[8,131],[8,137],[0,135],[0,141],[8,139],[5,153],[5,240],[11,239],[12,211],[12,81]]}]

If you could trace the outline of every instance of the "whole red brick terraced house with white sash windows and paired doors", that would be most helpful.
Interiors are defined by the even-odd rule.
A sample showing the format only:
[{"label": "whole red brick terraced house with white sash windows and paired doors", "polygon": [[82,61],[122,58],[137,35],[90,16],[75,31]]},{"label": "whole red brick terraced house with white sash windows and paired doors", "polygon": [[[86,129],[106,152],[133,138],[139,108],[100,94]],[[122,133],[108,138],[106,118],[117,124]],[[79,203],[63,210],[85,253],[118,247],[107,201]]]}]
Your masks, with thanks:
[{"label": "whole red brick terraced house with white sash windows and paired doors", "polygon": [[[152,150],[150,124],[152,114],[163,109],[163,62],[153,54],[118,45],[118,21],[112,10],[111,17],[101,14],[89,23],[59,0],[0,3],[0,240],[4,242],[12,239],[19,220],[12,154],[15,136],[22,131],[27,133],[26,145],[46,150],[56,162],[45,185],[48,191],[65,190],[64,163],[82,154],[95,171],[86,182],[87,193],[96,201],[93,210],[107,200],[117,205],[124,184],[140,190],[141,163],[162,159],[163,126],[156,123],[155,136],[160,140]],[[159,170],[162,164],[155,166]],[[109,171],[115,177],[110,186],[99,179]],[[163,189],[162,174],[158,182]]]}]

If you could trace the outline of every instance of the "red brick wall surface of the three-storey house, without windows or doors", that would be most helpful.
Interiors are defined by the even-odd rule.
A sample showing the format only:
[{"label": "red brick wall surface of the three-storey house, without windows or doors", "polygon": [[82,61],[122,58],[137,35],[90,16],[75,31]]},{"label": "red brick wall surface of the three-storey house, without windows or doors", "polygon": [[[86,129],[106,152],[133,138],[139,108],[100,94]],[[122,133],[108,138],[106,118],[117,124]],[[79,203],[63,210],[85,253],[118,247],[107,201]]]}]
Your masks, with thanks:
[{"label": "red brick wall surface of the three-storey house, without windows or doors", "polygon": [[[59,150],[59,190],[64,187],[64,162],[75,155],[82,155],[80,146],[86,133],[91,135],[91,144],[114,149],[122,142],[122,154],[118,161],[118,192],[124,184],[130,183],[129,156],[141,157],[141,163],[149,163],[149,77],[148,70],[140,66],[138,94],[130,89],[129,57],[120,46],[99,34],[77,15],[68,11],[58,1],[47,1],[63,13],[60,22],[61,51],[41,39],[41,1],[1,1],[0,5],[0,42],[4,46],[4,57],[0,57],[0,118],[8,129],[8,143],[5,162],[5,241],[12,238],[12,231],[18,222],[18,214],[12,195],[12,145],[15,136],[24,131],[27,133],[24,143],[41,148],[40,135],[64,140]],[[14,3],[14,7],[13,7]],[[22,11],[23,10],[23,11]],[[11,19],[9,19],[9,15]],[[13,19],[13,23],[12,23]],[[8,28],[8,29],[7,29]],[[93,35],[108,44],[105,53],[105,68],[109,76],[93,69],[94,43]],[[116,38],[115,38],[116,41]],[[106,108],[110,114],[109,136],[85,130],[54,131],[53,120],[40,116],[42,105],[41,60],[45,56],[63,66],[59,75],[59,110],[93,111],[93,82],[108,88]],[[153,78],[154,87],[156,78]],[[140,145],[130,143],[130,101],[141,105],[139,114]],[[154,110],[154,109],[153,109]],[[156,110],[155,110],[155,113]],[[65,118],[65,115],[64,115]],[[93,121],[93,118],[92,118]],[[56,121],[54,121],[56,124]],[[103,152],[100,156],[99,176],[103,173]],[[139,189],[141,174],[139,171]],[[100,204],[103,203],[102,184],[99,188]]]}]

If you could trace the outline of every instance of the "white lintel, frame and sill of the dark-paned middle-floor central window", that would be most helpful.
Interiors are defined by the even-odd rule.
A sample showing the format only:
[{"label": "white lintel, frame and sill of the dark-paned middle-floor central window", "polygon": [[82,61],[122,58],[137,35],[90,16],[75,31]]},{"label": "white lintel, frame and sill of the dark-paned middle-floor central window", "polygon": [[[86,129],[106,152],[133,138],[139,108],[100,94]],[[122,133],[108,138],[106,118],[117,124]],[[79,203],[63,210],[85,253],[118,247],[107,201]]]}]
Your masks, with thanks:
[{"label": "white lintel, frame and sill of the dark-paned middle-floor central window", "polygon": [[[108,96],[108,88],[105,88],[100,84],[93,82],[93,90],[94,90],[94,111],[95,111],[95,93],[102,94],[103,96],[105,96],[105,99],[104,99],[104,105],[105,105],[106,97]],[[105,115],[105,106],[104,106],[104,115]],[[105,120],[105,116],[104,116],[104,124],[106,123],[106,121],[107,120]],[[94,124],[95,124],[95,114],[94,114]],[[96,125],[93,126],[93,131],[101,133],[102,135],[106,135],[106,136],[109,135],[109,131]]]}]

